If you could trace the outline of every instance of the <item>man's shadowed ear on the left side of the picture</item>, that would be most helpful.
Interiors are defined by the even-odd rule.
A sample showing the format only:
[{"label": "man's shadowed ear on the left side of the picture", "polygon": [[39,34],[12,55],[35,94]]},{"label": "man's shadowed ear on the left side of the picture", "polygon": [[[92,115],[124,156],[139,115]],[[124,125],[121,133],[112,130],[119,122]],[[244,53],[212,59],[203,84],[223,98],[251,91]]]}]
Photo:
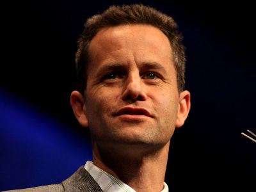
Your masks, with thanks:
[{"label": "man's shadowed ear on the left side of the picture", "polygon": [[70,105],[79,124],[83,127],[88,127],[84,97],[80,92],[74,91],[71,93]]}]

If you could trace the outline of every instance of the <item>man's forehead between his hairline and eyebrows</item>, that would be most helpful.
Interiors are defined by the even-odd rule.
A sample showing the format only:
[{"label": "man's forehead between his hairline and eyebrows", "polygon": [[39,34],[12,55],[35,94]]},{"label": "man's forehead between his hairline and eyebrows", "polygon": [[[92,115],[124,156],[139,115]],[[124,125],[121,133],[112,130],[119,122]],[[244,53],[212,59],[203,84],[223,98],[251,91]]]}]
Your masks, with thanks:
[{"label": "man's forehead between his hairline and eyebrows", "polygon": [[153,26],[142,24],[100,29],[90,43],[89,55],[95,59],[125,49],[136,53],[152,52],[159,57],[172,59],[172,48],[167,36]]}]

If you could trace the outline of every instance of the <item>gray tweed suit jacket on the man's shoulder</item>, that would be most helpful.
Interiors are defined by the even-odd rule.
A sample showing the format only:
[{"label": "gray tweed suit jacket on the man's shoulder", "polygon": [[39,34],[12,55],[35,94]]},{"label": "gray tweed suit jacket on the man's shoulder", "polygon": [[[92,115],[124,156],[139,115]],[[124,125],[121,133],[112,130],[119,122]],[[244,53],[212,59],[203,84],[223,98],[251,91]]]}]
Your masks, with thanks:
[{"label": "gray tweed suit jacket on the man's shoulder", "polygon": [[71,177],[61,182],[49,186],[36,188],[17,189],[9,192],[100,192],[102,189],[88,173],[84,166],[81,166]]}]

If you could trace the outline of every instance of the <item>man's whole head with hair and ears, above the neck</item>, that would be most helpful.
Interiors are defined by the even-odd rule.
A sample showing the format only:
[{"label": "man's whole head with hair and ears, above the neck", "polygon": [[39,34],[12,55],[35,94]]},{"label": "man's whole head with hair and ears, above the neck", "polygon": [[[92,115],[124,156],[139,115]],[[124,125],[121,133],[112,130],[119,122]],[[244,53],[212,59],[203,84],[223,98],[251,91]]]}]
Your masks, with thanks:
[{"label": "man's whole head with hair and ears, above the neck", "polygon": [[[127,9],[129,15],[138,18],[143,11],[145,18],[141,22],[127,19]],[[90,127],[93,145],[100,148],[127,147],[133,151],[135,146],[153,150],[168,145],[190,108],[190,94],[182,92],[185,59],[177,26],[170,17],[163,19],[155,10],[141,5],[108,11],[116,14],[89,19],[86,26],[97,19],[102,24],[95,29],[86,27],[80,40],[80,90],[72,92],[70,99],[74,114],[81,125]],[[148,24],[152,12],[154,25]],[[116,18],[129,22],[118,24]],[[157,18],[169,25],[165,26],[169,35],[157,25]]]}]

